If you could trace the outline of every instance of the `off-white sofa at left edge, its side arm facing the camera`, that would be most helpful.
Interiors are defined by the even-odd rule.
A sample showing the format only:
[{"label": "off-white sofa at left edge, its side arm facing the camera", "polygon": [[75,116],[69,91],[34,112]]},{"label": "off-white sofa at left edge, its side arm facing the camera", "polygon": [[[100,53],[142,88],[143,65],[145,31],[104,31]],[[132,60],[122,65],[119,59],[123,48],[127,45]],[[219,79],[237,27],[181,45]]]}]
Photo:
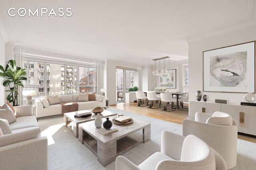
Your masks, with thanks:
[{"label": "off-white sofa at left edge, its side arm facing the camera", "polygon": [[18,117],[11,134],[0,136],[0,169],[48,168],[48,141],[41,137],[33,106],[14,107]]}]

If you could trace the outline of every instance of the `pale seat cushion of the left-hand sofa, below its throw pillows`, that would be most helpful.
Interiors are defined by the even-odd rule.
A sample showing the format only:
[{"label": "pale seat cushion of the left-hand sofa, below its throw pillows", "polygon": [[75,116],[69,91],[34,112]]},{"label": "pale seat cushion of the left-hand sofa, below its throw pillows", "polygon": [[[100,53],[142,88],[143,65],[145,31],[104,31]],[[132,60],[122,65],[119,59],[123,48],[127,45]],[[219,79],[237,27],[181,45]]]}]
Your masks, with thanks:
[{"label": "pale seat cushion of the left-hand sofa, below its throw pillows", "polygon": [[38,127],[38,123],[36,121],[35,115],[23,116],[23,117],[18,117],[16,122],[10,124],[10,127],[13,131],[13,130],[27,128],[27,127]]}]

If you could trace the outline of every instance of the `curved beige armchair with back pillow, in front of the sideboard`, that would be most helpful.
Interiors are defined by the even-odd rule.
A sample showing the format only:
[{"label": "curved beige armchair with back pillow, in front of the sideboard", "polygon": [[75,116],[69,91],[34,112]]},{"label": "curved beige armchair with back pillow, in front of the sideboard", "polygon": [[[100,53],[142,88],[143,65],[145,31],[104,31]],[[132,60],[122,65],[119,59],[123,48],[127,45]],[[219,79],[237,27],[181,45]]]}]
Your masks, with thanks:
[{"label": "curved beige armchair with back pillow, in front of the sideboard", "polygon": [[195,135],[216,150],[225,160],[227,168],[236,166],[237,122],[227,113],[196,112],[195,121],[184,120],[183,136]]}]

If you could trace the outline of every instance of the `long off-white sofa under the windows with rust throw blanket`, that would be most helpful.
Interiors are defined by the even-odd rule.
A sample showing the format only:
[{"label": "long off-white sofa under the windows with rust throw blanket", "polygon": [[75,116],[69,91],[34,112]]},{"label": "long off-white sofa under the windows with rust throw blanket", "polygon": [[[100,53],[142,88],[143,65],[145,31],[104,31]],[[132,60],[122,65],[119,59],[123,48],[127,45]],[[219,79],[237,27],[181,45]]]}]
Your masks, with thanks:
[{"label": "long off-white sofa under the windows with rust throw blanket", "polygon": [[[96,96],[100,96],[97,95]],[[78,94],[63,94],[58,95],[60,102],[76,102],[78,103],[78,110],[86,110],[86,109],[94,109],[95,107],[106,107],[106,97],[103,96],[101,101],[97,101],[97,97],[95,101],[88,101],[88,102],[77,102],[78,101]],[[40,99],[45,98],[46,96],[41,96]],[[62,106],[61,104],[54,104],[50,105],[49,107],[44,107],[41,100],[35,100],[36,106],[36,119],[38,120],[39,117],[51,116],[51,115],[59,115],[62,114]]]}]

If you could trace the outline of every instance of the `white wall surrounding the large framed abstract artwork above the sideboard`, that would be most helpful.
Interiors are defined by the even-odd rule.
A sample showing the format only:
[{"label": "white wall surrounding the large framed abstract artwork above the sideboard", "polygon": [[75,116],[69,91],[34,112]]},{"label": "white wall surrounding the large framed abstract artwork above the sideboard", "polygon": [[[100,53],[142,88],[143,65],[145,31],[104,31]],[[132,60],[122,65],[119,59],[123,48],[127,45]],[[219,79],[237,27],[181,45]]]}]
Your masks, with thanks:
[{"label": "white wall surrounding the large framed abstract artwork above the sideboard", "polygon": [[[231,31],[214,37],[201,39],[188,43],[189,62],[189,100],[196,99],[196,91],[203,90],[203,51],[245,43],[256,40],[256,25]],[[214,101],[216,98],[227,99],[228,102],[245,102],[245,93],[226,92],[202,92],[207,95],[207,99]]]}]

